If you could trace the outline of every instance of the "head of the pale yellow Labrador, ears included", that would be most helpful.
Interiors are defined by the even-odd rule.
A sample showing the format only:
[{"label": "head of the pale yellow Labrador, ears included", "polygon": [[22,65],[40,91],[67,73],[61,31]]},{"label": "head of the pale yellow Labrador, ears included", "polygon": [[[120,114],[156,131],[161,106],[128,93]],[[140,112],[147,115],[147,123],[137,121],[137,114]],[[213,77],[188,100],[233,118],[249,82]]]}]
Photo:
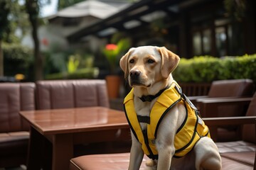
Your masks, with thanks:
[{"label": "head of the pale yellow Labrador, ears included", "polygon": [[180,58],[166,47],[131,48],[120,60],[120,67],[129,85],[150,87],[169,78]]}]

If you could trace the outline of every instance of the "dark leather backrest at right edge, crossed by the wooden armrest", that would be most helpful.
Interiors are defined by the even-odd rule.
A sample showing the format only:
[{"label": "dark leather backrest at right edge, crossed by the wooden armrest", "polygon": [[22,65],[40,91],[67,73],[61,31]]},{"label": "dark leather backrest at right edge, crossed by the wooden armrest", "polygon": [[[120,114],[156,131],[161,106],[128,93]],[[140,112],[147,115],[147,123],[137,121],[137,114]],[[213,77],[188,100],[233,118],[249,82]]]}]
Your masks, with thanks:
[{"label": "dark leather backrest at right edge, crossed by the wooden armrest", "polygon": [[[256,116],[256,92],[252,97],[252,101],[247,109],[247,116]],[[253,125],[243,125],[242,128],[242,140],[247,142],[256,143],[255,137],[255,124]]]}]

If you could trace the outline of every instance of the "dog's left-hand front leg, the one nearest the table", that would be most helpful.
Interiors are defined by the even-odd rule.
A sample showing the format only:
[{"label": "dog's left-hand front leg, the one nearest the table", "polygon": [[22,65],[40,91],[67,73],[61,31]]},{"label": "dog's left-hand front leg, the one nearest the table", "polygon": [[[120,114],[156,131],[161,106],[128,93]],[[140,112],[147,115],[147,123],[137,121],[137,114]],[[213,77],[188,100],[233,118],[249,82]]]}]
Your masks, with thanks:
[{"label": "dog's left-hand front leg, the one nearest the table", "polygon": [[132,134],[132,147],[129,159],[129,170],[139,170],[139,167],[142,164],[143,156],[144,152],[142,150],[142,145]]}]

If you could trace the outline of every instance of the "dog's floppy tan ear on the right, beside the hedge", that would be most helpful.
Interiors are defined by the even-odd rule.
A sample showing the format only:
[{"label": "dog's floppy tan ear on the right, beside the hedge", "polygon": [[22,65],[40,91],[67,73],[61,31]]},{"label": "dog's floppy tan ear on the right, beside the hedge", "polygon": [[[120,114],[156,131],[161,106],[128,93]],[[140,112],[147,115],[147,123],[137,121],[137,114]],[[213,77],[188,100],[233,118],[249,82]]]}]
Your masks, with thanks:
[{"label": "dog's floppy tan ear on the right, beside the hedge", "polygon": [[173,72],[174,69],[177,67],[180,57],[174,54],[174,52],[167,50],[166,47],[158,47],[158,51],[161,55],[162,60],[161,74],[165,79],[167,79],[169,77],[169,74],[171,74],[171,72]]}]

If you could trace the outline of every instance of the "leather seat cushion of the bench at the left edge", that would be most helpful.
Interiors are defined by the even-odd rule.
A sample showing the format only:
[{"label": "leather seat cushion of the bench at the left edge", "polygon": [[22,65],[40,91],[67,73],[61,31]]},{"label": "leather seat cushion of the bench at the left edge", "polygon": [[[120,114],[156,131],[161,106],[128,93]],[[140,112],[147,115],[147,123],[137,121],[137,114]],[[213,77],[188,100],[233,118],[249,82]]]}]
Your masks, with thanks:
[{"label": "leather seat cushion of the bench at the left edge", "polygon": [[29,132],[0,133],[0,157],[26,153],[28,149]]}]

